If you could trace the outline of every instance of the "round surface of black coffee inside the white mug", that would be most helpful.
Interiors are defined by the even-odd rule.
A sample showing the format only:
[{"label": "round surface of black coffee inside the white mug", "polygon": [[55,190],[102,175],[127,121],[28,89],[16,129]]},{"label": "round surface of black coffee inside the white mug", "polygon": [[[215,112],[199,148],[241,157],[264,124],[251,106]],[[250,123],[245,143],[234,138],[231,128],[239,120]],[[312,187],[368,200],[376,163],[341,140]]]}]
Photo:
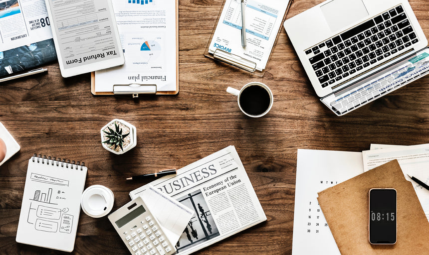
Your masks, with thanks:
[{"label": "round surface of black coffee inside the white mug", "polygon": [[259,85],[250,85],[240,94],[241,109],[248,115],[261,115],[268,110],[271,98],[266,89]]}]

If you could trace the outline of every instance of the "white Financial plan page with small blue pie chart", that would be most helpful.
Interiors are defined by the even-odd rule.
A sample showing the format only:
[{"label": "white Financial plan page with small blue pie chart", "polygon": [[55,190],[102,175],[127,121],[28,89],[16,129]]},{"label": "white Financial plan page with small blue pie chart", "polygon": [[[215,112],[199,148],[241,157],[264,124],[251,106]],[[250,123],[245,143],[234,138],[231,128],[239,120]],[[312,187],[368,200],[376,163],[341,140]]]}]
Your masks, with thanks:
[{"label": "white Financial plan page with small blue pie chart", "polygon": [[176,1],[112,0],[125,64],[95,72],[95,92],[113,85],[157,85],[176,91]]}]

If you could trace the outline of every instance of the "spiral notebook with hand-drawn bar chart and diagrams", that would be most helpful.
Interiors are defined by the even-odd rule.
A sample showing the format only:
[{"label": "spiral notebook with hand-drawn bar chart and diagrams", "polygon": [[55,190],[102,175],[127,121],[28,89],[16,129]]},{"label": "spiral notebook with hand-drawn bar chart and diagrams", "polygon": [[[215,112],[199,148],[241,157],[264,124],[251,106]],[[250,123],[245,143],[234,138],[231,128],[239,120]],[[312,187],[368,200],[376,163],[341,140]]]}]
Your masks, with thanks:
[{"label": "spiral notebook with hand-drawn bar chart and diagrams", "polygon": [[28,161],[16,242],[73,251],[86,172],[79,161],[34,154]]}]

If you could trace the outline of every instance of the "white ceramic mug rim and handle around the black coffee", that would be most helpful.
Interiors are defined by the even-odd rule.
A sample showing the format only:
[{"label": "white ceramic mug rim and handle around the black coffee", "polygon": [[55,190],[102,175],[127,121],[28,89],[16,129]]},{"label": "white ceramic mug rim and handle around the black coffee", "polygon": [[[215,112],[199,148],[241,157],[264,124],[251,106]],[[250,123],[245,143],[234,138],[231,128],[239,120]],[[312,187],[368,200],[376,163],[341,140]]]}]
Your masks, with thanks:
[{"label": "white ceramic mug rim and handle around the black coffee", "polygon": [[274,102],[271,90],[260,82],[247,83],[241,90],[228,87],[226,92],[237,96],[241,112],[252,118],[266,115]]}]

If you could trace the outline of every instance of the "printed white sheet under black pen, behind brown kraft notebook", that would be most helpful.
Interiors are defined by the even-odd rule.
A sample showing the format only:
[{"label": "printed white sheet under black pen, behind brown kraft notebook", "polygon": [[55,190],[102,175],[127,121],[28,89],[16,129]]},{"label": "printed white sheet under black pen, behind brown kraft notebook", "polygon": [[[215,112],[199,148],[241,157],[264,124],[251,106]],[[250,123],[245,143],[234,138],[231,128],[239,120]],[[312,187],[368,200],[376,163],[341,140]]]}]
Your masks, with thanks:
[{"label": "printed white sheet under black pen, behind brown kraft notebook", "polygon": [[[389,145],[384,146],[389,147]],[[429,184],[429,144],[366,150],[362,152],[362,156],[365,171],[398,159],[404,176],[413,184],[417,197],[429,221],[429,190],[423,188],[407,176],[409,174]]]}]

